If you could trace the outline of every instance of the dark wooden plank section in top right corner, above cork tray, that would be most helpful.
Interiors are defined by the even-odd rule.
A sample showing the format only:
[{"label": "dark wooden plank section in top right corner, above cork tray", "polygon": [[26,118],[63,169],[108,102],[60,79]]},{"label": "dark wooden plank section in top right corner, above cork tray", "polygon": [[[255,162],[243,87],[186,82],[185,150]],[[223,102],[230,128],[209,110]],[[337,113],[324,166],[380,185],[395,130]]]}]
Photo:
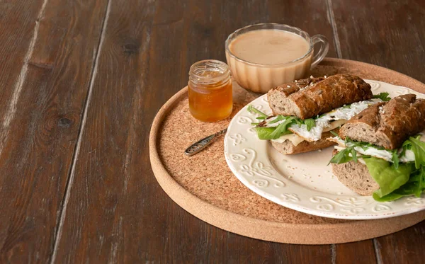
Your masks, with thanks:
[{"label": "dark wooden plank section in top right corner, above cork tray", "polygon": [[425,81],[425,1],[331,0],[344,59]]}]

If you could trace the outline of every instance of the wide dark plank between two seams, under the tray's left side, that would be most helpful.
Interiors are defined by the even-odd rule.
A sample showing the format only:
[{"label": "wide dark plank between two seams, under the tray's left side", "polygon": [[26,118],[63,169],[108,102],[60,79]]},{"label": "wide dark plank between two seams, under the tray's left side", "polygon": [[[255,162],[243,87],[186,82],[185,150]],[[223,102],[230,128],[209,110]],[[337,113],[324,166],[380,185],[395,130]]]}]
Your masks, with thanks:
[{"label": "wide dark plank between two seams, under the tray's left side", "polygon": [[186,86],[193,62],[225,60],[227,35],[251,23],[331,39],[325,2],[111,0],[109,10],[54,262],[330,263],[330,246],[247,239],[191,216],[159,187],[147,150],[154,115]]}]

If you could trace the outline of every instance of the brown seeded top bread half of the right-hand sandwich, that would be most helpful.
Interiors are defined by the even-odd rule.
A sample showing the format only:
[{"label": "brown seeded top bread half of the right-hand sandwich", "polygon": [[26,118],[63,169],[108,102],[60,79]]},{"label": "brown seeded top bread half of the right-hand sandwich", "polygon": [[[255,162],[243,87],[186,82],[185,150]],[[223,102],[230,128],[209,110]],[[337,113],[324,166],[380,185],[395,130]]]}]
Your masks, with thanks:
[{"label": "brown seeded top bread half of the right-hand sandwich", "polygon": [[409,93],[366,108],[341,127],[339,136],[397,149],[408,137],[424,130],[425,100]]}]

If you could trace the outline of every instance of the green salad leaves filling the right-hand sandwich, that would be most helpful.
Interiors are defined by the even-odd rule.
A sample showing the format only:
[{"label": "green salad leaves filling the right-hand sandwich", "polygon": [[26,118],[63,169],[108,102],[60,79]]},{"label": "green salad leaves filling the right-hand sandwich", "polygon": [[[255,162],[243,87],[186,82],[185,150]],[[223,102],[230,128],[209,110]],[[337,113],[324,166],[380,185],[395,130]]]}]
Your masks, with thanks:
[{"label": "green salad leaves filling the right-hand sandwich", "polygon": [[[380,186],[379,190],[373,193],[373,199],[378,202],[390,202],[407,195],[421,196],[421,193],[425,190],[425,142],[419,140],[420,137],[420,135],[409,137],[403,143],[402,151],[392,151],[391,162],[372,156],[361,156],[368,167],[370,176]],[[346,139],[346,142],[353,141]],[[329,163],[357,162],[358,154],[354,147],[380,148],[365,142],[353,143],[351,147],[339,151]],[[414,162],[399,163],[399,158],[404,156],[407,149],[414,153]]]}]

